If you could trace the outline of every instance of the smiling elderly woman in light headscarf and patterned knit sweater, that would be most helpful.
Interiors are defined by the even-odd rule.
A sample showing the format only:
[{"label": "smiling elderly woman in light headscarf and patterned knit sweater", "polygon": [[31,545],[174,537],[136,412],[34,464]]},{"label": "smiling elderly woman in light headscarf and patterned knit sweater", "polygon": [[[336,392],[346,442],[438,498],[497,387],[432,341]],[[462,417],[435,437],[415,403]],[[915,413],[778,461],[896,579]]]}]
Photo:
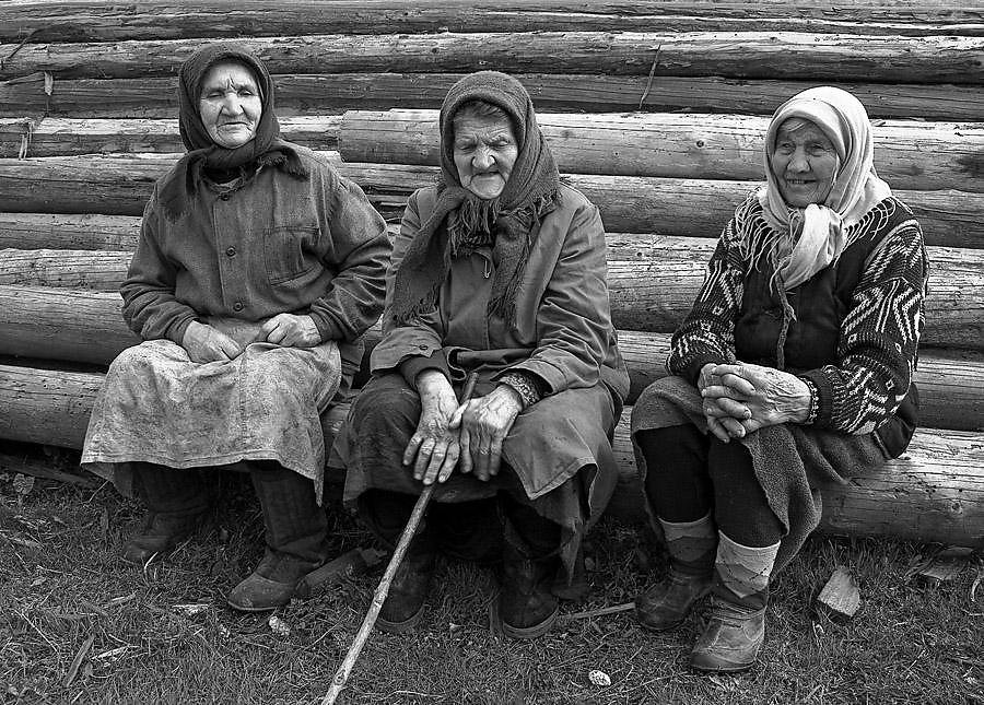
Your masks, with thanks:
[{"label": "smiling elderly woman in light headscarf and patterned knit sweater", "polygon": [[769,126],[765,168],[673,334],[672,376],[632,414],[670,557],[637,616],[669,630],[711,592],[701,671],[751,666],[770,580],[820,519],[817,489],[899,456],[916,422],[926,255],[875,174],[864,107],[833,87],[796,95]]}]

